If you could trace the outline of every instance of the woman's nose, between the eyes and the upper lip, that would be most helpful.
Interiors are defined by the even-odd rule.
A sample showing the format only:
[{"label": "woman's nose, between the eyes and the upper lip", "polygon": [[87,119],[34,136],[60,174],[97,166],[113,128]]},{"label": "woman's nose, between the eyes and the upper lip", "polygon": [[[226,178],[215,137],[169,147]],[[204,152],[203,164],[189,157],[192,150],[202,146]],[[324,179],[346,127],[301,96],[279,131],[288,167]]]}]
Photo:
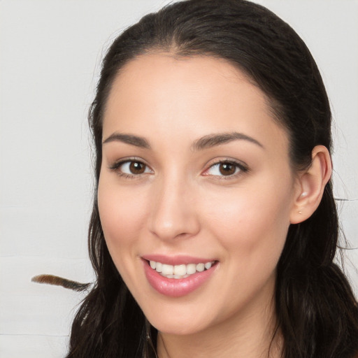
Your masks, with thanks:
[{"label": "woman's nose, between the eyes and the upper lip", "polygon": [[189,238],[200,231],[194,185],[168,178],[157,182],[148,219],[149,231],[164,241]]}]

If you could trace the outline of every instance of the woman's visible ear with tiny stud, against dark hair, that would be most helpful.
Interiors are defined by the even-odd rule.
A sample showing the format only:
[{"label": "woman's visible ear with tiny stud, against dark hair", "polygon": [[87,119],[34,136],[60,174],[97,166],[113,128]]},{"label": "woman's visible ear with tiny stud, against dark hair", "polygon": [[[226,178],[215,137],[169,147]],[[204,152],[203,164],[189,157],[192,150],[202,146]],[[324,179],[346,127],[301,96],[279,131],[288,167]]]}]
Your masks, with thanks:
[{"label": "woman's visible ear with tiny stud, against dark hair", "polygon": [[296,197],[289,215],[291,224],[303,222],[315,212],[331,173],[332,162],[328,149],[324,145],[315,146],[310,167],[298,174]]}]

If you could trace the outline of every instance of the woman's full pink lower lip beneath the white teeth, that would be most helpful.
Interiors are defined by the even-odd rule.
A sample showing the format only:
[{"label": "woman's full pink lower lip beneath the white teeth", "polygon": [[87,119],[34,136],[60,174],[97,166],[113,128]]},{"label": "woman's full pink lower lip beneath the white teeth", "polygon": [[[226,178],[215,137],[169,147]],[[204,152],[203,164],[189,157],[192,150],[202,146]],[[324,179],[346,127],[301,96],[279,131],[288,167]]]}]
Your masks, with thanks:
[{"label": "woman's full pink lower lip beneath the white teeth", "polygon": [[160,294],[170,297],[185,296],[203,285],[214,273],[217,264],[208,270],[196,272],[187,278],[166,278],[153,270],[148,261],[143,260],[145,276],[150,285]]}]

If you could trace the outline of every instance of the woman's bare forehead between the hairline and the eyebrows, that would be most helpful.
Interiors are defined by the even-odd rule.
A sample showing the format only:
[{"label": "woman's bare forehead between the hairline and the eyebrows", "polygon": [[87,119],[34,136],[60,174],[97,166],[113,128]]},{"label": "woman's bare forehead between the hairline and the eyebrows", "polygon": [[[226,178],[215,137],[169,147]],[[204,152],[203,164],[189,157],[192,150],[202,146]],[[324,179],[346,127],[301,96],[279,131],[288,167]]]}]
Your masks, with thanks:
[{"label": "woman's bare forehead between the hairline and the eyebrows", "polygon": [[236,66],[208,56],[150,53],[128,62],[104,115],[103,137],[114,131],[155,133],[161,140],[240,131],[287,151],[287,134],[273,120],[264,92]]}]

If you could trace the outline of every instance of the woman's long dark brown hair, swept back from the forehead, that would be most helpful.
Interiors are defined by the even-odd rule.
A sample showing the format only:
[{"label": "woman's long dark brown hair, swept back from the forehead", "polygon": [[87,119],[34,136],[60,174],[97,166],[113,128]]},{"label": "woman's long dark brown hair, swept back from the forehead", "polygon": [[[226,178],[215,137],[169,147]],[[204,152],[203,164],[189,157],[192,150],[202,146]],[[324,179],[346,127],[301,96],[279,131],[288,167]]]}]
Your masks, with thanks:
[{"label": "woman's long dark brown hair, swept back from the forehead", "polygon": [[[289,136],[296,170],[310,166],[315,145],[331,148],[331,111],[320,72],[296,32],[263,6],[245,0],[187,0],[145,15],[103,59],[89,112],[96,149],[96,188],[89,229],[94,287],[73,321],[70,357],[156,357],[157,331],[113,264],[96,199],[103,112],[113,80],[127,62],[153,51],[226,59],[266,94]],[[315,213],[291,224],[278,262],[277,328],[285,358],[352,358],[358,352],[358,308],[334,263],[338,217],[331,182]]]}]

